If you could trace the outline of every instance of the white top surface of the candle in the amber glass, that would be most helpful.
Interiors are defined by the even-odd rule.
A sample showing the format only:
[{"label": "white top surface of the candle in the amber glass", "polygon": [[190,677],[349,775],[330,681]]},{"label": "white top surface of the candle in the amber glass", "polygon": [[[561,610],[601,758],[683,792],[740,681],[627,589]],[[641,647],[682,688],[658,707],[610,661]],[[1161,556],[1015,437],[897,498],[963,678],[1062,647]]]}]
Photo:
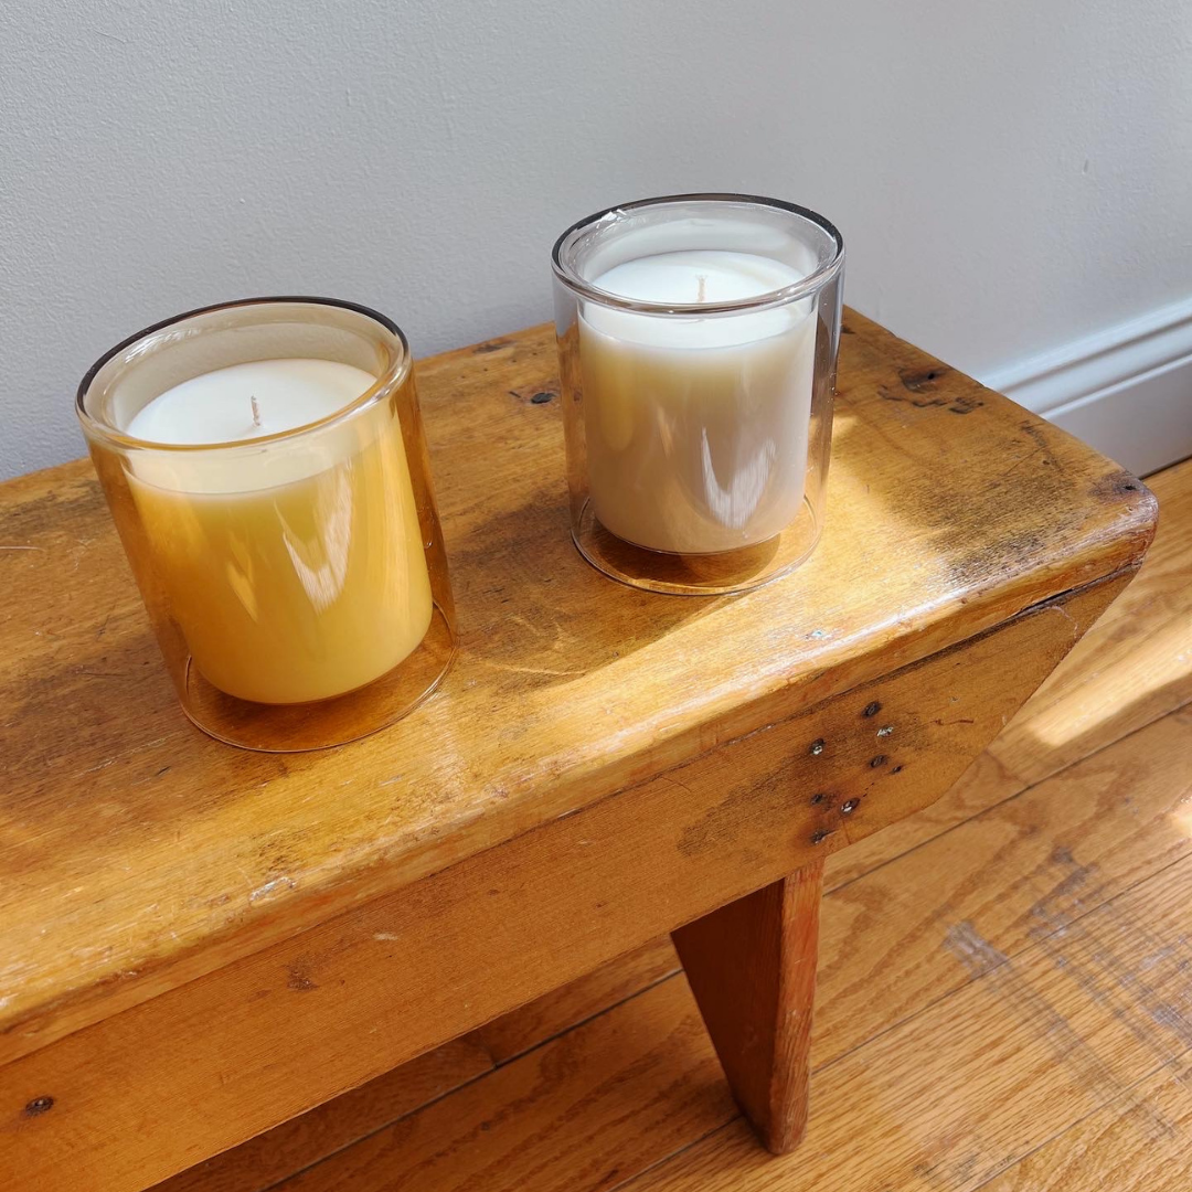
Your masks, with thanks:
[{"label": "white top surface of the candle in the amber glass", "polygon": [[337,360],[253,360],[166,390],[132,418],[128,434],[155,443],[260,439],[342,410],[375,380]]}]

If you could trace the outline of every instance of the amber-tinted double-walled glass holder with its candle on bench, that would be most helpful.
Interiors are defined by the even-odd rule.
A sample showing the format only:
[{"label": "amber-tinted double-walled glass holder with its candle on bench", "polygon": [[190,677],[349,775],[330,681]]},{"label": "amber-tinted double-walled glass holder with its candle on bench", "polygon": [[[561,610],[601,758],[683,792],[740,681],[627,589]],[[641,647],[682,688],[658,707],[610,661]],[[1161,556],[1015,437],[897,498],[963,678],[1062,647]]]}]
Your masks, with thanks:
[{"label": "amber-tinted double-walled glass holder with its candle on bench", "polygon": [[322,298],[191,311],[103,356],[77,411],[199,728],[322,749],[435,688],[454,613],[396,324]]}]

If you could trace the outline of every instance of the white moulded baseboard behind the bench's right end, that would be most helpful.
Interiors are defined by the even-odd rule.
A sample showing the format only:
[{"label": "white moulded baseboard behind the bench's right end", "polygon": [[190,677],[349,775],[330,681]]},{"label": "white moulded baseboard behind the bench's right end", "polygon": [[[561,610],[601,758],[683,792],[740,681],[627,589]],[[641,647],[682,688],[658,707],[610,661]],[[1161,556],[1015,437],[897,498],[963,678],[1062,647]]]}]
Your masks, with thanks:
[{"label": "white moulded baseboard behind the bench's right end", "polygon": [[1192,299],[980,378],[1131,472],[1192,455]]}]

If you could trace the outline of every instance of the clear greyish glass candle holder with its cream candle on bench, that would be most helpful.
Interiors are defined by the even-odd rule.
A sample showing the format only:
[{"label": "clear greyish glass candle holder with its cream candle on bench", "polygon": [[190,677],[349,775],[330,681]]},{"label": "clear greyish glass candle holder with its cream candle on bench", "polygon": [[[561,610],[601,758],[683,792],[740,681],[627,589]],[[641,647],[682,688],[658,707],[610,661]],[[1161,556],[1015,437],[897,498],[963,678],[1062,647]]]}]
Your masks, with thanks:
[{"label": "clear greyish glass candle holder with its cream candle on bench", "polygon": [[743,591],[824,524],[844,241],[749,194],[610,207],[553,253],[571,532],[635,588]]}]

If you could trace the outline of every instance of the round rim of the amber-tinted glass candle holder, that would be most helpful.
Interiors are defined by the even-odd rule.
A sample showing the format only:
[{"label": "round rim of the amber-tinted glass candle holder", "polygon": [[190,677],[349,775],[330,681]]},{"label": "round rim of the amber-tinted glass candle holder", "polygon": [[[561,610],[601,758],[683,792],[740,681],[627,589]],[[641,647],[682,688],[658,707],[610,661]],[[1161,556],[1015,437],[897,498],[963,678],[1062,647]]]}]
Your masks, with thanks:
[{"label": "round rim of the amber-tinted glass candle holder", "polygon": [[[283,305],[283,304],[303,304],[308,306],[331,306],[337,310],[349,310],[356,315],[364,315],[366,318],[377,323],[384,330],[389,331],[401,346],[401,350],[395,353],[395,360],[392,365],[384,370],[377,380],[368,386],[359,397],[354,397],[347,405],[340,406],[325,417],[317,418],[313,422],[304,422],[300,426],[291,427],[288,430],[277,430],[269,435],[260,435],[255,439],[231,439],[215,441],[210,443],[162,443],[155,442],[151,439],[138,439],[135,435],[130,435],[118,427],[112,426],[100,418],[97,418],[91,410],[87,409],[87,397],[91,393],[92,385],[95,378],[99,375],[100,371],[107,365],[112,359],[119,355],[122,352],[126,352],[129,348],[136,347],[142,340],[148,339],[150,335],[156,335],[159,331],[166,330],[166,328],[175,327],[185,323],[187,319],[198,318],[200,315],[211,315],[217,311],[223,310],[236,310],[246,306],[271,306],[271,305]],[[360,410],[374,405],[378,401],[384,398],[390,393],[397,385],[401,385],[409,375],[412,367],[412,358],[410,355],[410,342],[405,337],[405,333],[397,325],[391,318],[381,315],[380,311],[373,310],[371,306],[365,306],[360,303],[347,302],[342,298],[318,298],[311,294],[277,294],[277,296],[265,296],[259,298],[234,298],[229,302],[217,302],[209,306],[195,306],[193,310],[184,311],[181,315],[173,315],[169,318],[163,318],[159,323],[154,323],[150,327],[142,328],[142,330],[134,333],[126,340],[122,340],[114,347],[108,348],[86,372],[82,380],[79,383],[79,390],[75,395],[75,412],[79,416],[79,421],[82,423],[83,430],[88,437],[101,440],[107,443],[113,443],[116,446],[123,447],[125,449],[150,449],[150,451],[162,451],[162,452],[203,452],[203,451],[221,451],[231,449],[234,447],[259,447],[267,443],[281,442],[286,440],[298,439],[308,434],[312,434],[317,430],[323,430],[328,427],[334,427],[340,422],[347,421],[353,415],[358,414]]]}]

